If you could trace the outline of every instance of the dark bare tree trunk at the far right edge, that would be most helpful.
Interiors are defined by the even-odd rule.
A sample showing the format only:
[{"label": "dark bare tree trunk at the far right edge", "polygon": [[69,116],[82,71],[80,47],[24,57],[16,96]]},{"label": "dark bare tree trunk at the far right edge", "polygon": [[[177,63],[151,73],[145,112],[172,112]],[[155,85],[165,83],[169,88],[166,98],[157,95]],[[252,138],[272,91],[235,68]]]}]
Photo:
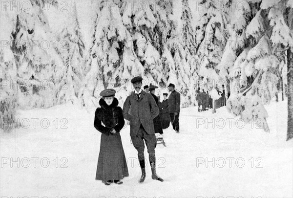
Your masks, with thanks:
[{"label": "dark bare tree trunk at the far right edge", "polygon": [[288,125],[287,141],[293,138],[293,55],[291,48],[287,50],[287,67],[288,67]]}]

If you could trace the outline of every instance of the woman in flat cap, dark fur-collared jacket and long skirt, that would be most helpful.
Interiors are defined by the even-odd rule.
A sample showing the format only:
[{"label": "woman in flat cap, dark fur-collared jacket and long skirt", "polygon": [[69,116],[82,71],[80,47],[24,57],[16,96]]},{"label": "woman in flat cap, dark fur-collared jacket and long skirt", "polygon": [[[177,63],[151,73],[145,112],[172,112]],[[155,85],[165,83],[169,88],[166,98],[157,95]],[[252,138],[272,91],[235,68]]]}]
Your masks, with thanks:
[{"label": "woman in flat cap, dark fur-collared jacket and long skirt", "polygon": [[114,89],[100,93],[103,96],[99,102],[101,108],[97,108],[94,121],[95,128],[102,132],[96,180],[102,180],[105,185],[122,184],[121,179],[129,176],[120,136],[125,122],[115,93]]}]

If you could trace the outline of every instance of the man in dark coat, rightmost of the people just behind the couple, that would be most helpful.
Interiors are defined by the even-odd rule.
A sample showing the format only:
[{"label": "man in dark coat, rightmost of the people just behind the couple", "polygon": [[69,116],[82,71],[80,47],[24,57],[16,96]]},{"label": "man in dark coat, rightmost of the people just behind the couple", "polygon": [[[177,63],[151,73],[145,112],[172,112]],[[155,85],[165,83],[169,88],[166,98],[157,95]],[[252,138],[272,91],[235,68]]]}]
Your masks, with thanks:
[{"label": "man in dark coat, rightmost of the people just behind the couple", "polygon": [[179,133],[179,113],[180,113],[180,93],[175,91],[175,85],[170,83],[168,86],[171,91],[168,99],[169,114],[173,129]]}]

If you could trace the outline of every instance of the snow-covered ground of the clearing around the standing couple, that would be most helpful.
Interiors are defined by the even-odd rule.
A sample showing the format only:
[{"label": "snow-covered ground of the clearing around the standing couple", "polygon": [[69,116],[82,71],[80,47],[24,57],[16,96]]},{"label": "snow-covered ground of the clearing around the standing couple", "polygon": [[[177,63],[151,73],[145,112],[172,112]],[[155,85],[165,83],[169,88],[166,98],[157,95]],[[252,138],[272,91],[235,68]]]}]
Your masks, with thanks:
[{"label": "snow-covered ground of the clearing around the standing couple", "polygon": [[[127,126],[121,135],[130,176],[124,184],[110,186],[95,180],[101,133],[93,127],[94,110],[88,113],[62,105],[21,111],[20,122],[29,121],[28,129],[1,132],[0,197],[292,198],[293,141],[285,141],[287,104],[266,108],[271,133],[256,129],[255,123],[240,129],[242,122],[236,123],[238,117],[225,108],[216,114],[199,113],[196,107],[182,109],[181,133],[169,127],[164,131],[167,147],[156,148],[157,173],[163,183],[151,179],[148,163],[146,181],[138,183],[140,168]],[[36,128],[33,118],[39,118]],[[215,126],[206,126],[213,118]],[[230,126],[229,118],[234,119]],[[50,122],[47,129],[46,121],[41,127],[41,119]],[[207,160],[211,162],[206,164]]]}]

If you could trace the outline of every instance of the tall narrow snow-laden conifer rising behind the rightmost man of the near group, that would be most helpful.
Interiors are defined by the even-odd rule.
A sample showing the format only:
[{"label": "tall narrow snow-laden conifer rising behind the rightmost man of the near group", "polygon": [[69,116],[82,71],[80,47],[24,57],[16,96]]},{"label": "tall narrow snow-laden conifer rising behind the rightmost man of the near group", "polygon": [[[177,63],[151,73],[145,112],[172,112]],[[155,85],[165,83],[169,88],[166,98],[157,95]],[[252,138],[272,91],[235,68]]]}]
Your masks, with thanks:
[{"label": "tall narrow snow-laden conifer rising behind the rightmost man of the near group", "polygon": [[194,30],[188,1],[173,1],[172,13],[169,15],[171,29],[162,55],[163,73],[167,75],[167,84],[175,84],[175,89],[182,94],[181,105],[186,107],[195,103],[197,76],[192,45]]}]

